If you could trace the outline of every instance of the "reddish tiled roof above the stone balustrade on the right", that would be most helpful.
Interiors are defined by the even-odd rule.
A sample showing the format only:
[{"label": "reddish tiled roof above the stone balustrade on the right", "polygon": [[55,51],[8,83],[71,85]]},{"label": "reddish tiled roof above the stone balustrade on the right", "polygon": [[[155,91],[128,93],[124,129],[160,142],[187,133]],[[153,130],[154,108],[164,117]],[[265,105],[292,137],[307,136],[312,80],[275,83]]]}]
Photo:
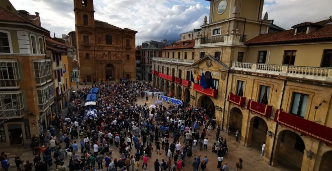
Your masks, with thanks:
[{"label": "reddish tiled roof above the stone balustrade on the right", "polygon": [[[245,42],[246,45],[265,45],[265,44],[283,44],[283,43],[301,43],[301,42],[315,42],[315,41],[331,41],[332,40],[332,22],[331,19],[312,23],[310,25],[319,27],[309,33],[296,34],[295,29],[286,30],[279,33],[261,34]],[[299,24],[300,26],[307,26],[309,22]],[[295,27],[300,27],[295,25]],[[294,27],[294,26],[293,26]]]}]

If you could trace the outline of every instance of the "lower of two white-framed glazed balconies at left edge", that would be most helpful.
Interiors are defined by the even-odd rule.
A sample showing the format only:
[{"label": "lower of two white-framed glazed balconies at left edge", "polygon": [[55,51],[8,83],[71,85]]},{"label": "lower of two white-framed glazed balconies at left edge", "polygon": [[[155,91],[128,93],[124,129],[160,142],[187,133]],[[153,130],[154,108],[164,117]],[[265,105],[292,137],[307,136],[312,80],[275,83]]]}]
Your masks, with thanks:
[{"label": "lower of two white-framed glazed balconies at left edge", "polygon": [[14,117],[24,109],[22,92],[0,92],[0,111],[5,117]]}]

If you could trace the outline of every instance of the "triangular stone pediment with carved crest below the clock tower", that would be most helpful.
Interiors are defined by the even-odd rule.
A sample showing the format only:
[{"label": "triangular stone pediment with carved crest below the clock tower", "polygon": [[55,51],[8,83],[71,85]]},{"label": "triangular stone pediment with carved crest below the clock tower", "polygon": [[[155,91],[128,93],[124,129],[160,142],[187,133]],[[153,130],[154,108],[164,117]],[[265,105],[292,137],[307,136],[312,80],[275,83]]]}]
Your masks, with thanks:
[{"label": "triangular stone pediment with carved crest below the clock tower", "polygon": [[192,64],[193,67],[205,68],[207,70],[229,70],[229,67],[218,59],[211,55],[206,55],[205,57],[199,59]]}]

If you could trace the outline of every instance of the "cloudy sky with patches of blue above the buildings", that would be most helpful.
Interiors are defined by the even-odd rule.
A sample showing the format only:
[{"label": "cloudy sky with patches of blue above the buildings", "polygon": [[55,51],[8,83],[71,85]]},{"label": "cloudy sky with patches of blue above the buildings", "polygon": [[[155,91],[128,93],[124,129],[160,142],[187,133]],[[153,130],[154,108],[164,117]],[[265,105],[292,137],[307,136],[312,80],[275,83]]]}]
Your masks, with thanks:
[{"label": "cloudy sky with patches of blue above the buildings", "polygon": [[[16,10],[39,12],[42,26],[56,37],[73,31],[73,0],[10,0]],[[248,0],[245,0],[248,1]],[[94,0],[95,19],[120,28],[138,31],[136,44],[146,40],[177,40],[180,33],[200,28],[209,14],[210,2],[203,0]],[[263,14],[285,29],[332,15],[331,0],[265,0]]]}]

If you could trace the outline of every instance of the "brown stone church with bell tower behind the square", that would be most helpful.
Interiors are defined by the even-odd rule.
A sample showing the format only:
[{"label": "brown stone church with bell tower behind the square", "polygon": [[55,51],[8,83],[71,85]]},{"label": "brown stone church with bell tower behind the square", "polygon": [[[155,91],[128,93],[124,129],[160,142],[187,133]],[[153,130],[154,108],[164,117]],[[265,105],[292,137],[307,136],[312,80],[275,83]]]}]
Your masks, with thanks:
[{"label": "brown stone church with bell tower behind the square", "polygon": [[135,80],[135,34],[95,20],[93,1],[74,0],[79,81]]}]

